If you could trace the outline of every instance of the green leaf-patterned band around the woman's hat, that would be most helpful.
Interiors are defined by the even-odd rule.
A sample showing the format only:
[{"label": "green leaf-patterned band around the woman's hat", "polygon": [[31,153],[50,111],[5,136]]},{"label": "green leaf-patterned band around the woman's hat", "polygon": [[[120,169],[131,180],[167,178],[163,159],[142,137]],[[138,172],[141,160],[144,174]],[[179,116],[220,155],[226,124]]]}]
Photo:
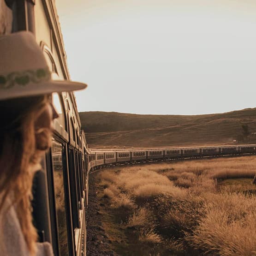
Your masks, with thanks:
[{"label": "green leaf-patterned band around the woman's hat", "polygon": [[51,79],[51,72],[47,68],[12,72],[0,75],[0,89],[11,89],[15,85],[26,86],[29,83],[47,82]]}]

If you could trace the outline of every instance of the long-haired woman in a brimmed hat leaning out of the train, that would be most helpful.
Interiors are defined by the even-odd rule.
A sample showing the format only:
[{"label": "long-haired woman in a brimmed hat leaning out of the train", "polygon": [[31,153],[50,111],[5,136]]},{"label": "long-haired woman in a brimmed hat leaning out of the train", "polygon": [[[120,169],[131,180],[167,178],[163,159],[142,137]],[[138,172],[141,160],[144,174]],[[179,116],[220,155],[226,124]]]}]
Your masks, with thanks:
[{"label": "long-haired woman in a brimmed hat leaning out of the train", "polygon": [[32,179],[51,145],[53,120],[58,117],[51,93],[86,85],[51,80],[30,32],[0,36],[0,56],[0,254],[53,255],[48,243],[36,243]]}]

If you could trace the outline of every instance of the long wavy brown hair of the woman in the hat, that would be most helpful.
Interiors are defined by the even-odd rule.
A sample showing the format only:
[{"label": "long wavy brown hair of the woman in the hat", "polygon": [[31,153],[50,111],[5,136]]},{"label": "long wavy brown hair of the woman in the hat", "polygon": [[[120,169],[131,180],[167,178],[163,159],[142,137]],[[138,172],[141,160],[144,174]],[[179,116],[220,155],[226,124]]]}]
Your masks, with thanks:
[{"label": "long wavy brown hair of the woman in the hat", "polygon": [[31,255],[36,254],[37,240],[31,213],[33,176],[51,144],[51,130],[36,127],[36,121],[47,101],[47,95],[0,101],[0,214],[10,198]]}]

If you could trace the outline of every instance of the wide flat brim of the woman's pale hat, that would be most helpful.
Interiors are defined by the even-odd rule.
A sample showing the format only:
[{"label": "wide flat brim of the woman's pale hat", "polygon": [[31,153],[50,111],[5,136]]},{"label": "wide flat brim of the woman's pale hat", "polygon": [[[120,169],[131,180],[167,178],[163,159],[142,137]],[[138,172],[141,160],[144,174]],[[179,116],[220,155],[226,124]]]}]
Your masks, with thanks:
[{"label": "wide flat brim of the woman's pale hat", "polygon": [[15,86],[15,88],[5,91],[5,94],[0,94],[0,100],[8,100],[21,97],[30,97],[37,95],[50,94],[54,92],[70,92],[82,90],[87,87],[87,84],[73,82],[67,80],[49,80],[42,83],[30,83],[24,87]]}]

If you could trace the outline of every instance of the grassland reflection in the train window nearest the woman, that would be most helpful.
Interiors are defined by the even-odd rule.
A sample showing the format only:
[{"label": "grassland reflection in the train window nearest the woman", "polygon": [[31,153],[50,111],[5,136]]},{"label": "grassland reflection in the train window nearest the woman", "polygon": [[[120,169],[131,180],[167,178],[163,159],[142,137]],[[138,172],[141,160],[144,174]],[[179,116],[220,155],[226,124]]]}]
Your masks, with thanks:
[{"label": "grassland reflection in the train window nearest the woman", "polygon": [[65,213],[65,192],[62,163],[62,144],[56,141],[52,146],[52,159],[54,169],[54,192],[57,213],[57,226],[59,236],[60,255],[68,255],[67,226]]}]

